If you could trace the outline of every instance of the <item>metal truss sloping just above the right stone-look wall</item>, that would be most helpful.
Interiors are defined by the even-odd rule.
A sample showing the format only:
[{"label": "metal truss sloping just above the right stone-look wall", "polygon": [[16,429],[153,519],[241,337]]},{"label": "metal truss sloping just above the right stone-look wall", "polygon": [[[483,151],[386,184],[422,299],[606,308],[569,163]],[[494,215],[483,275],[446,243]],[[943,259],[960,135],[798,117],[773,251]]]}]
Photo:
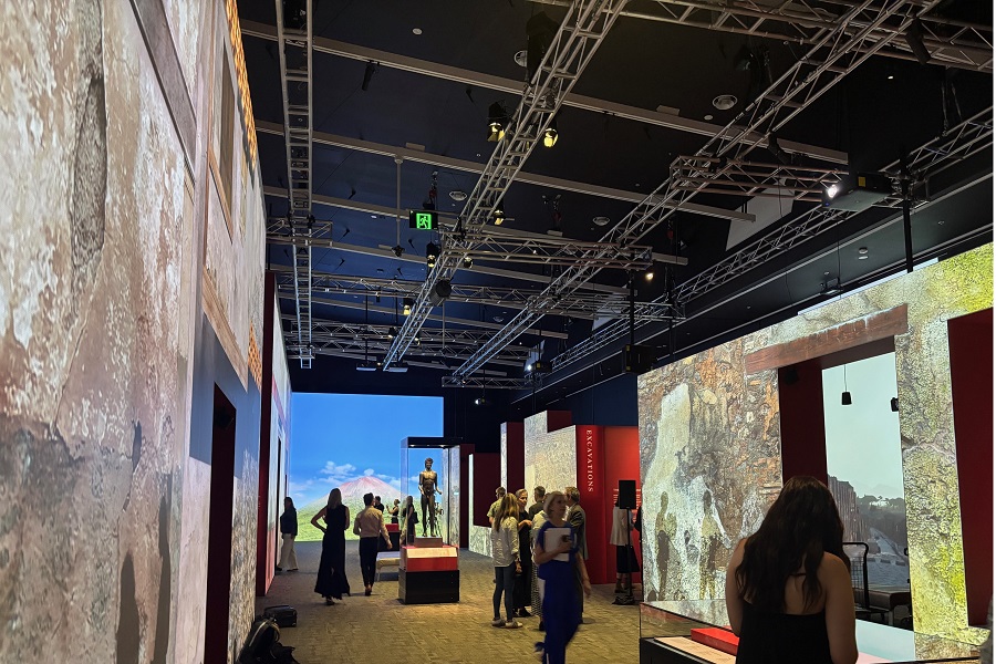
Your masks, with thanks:
[{"label": "metal truss sloping just above the right stone-look wall", "polygon": [[[977,113],[953,127],[945,136],[927,142],[907,157],[907,169],[915,180],[924,181],[951,164],[972,156],[993,145],[993,107]],[[900,176],[901,162],[885,166],[883,173]],[[886,199],[888,207],[898,208],[902,199]],[[675,289],[674,297],[684,307],[687,302],[743,277],[767,260],[806,242],[853,217],[857,212],[817,207],[799,215],[782,227],[745,246],[715,266],[703,270]],[[637,304],[637,311],[639,311]],[[637,325],[645,324],[637,319]],[[612,321],[579,344],[551,361],[553,371],[585,357],[603,347],[619,343],[629,333],[625,321]]]}]

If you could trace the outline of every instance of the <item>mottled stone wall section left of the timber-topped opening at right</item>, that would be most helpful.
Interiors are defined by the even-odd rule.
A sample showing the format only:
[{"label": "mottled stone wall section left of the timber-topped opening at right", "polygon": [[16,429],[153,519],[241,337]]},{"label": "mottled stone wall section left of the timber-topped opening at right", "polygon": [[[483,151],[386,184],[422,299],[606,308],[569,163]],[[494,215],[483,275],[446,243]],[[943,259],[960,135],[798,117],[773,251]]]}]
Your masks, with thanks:
[{"label": "mottled stone wall section left of the timber-topped opening at right", "polygon": [[639,382],[647,601],[722,598],[733,546],[780,485],[777,376],[748,382],[743,353],[737,340]]}]

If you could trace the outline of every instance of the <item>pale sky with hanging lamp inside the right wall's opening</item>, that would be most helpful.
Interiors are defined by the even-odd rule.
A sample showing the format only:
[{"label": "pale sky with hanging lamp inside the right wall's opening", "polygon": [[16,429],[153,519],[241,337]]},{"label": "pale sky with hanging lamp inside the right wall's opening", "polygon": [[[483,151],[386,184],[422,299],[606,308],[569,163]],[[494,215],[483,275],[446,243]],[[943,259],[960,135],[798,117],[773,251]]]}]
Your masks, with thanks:
[{"label": "pale sky with hanging lamp inside the right wall's opening", "polygon": [[858,496],[903,497],[899,413],[889,400],[896,395],[895,353],[847,365],[852,404],[841,404],[844,367],[823,370],[823,421],[827,427],[827,471],[851,483]]}]

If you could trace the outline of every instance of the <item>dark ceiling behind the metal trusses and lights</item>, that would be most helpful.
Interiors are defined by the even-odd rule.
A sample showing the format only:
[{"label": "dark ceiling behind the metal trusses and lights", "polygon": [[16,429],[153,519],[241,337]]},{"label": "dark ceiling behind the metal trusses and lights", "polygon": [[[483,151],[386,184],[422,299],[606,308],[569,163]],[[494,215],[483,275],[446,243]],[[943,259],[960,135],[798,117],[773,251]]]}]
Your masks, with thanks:
[{"label": "dark ceiling behind the metal trusses and lights", "polygon": [[[486,141],[489,106],[501,102],[512,112],[522,100],[527,71],[517,64],[516,53],[527,48],[527,21],[546,12],[552,21],[564,22],[566,4],[560,0],[314,2],[311,191],[312,214],[323,230],[311,258],[313,360],[311,369],[291,361],[295,391],[438,394],[444,376],[470,378],[468,384],[488,376],[521,378],[528,350],[540,344],[543,359],[556,367],[535,385],[540,405],[590,385],[594,374],[588,369],[598,366],[605,377],[621,371],[619,353],[625,335],[609,335],[603,344],[593,344],[589,338],[598,325],[591,311],[560,315],[548,308],[526,332],[461,374],[467,357],[520,311],[509,305],[515,298],[508,291],[495,288],[539,293],[550,279],[571,269],[554,261],[523,262],[521,257],[497,255],[455,271],[455,292],[445,308],[434,308],[419,330],[405,328],[403,336],[407,331],[419,338],[398,357],[408,363],[407,373],[355,371],[365,355],[376,361],[391,352],[388,328],[401,330],[405,323],[401,297],[416,294],[428,272],[426,245],[454,246],[453,224],[469,214],[473,200],[456,201],[449,194],[474,191],[480,170],[496,158],[499,144]],[[282,6],[287,13],[298,7],[305,4]],[[841,216],[813,200],[793,200],[793,187],[808,183],[819,188],[806,177],[826,181],[824,172],[831,169],[886,169],[895,175],[900,160],[909,156],[916,261],[992,237],[988,0],[892,0],[878,6],[892,15],[863,39],[854,35],[869,14],[855,14],[858,6],[851,2],[759,2],[751,6],[754,14],[739,22],[729,19],[726,7],[637,0],[625,4],[570,94],[557,98],[557,144],[532,149],[504,196],[509,219],[501,230],[527,232],[517,241],[536,236],[598,241],[662,184],[674,187],[679,181],[673,166],[681,156],[696,155],[704,147],[716,154],[709,147],[716,144],[712,137],[724,127],[748,126],[756,108],[779,105],[775,120],[754,125],[759,136],[753,142],[756,147],[744,142],[726,153],[732,159],[758,164],[754,170],[775,178],[765,180],[774,197],[753,196],[766,187],[737,195],[697,193],[688,200],[708,214],[675,211],[635,242],[652,245],[658,255],[677,256],[679,263],[687,261],[657,261],[653,282],[635,280],[637,302],[656,299],[679,305],[677,320],[641,322],[635,330],[637,343],[655,346],[658,364],[793,315],[832,297],[827,284],[838,280],[847,291],[902,269],[900,196]],[[292,286],[294,250],[283,222],[289,172],[277,9],[273,2],[241,2],[239,18],[271,219],[267,261],[278,272],[284,333],[291,356],[297,357],[301,350]],[[668,19],[682,12],[687,13]],[[785,18],[789,14],[795,18]],[[925,35],[920,42],[931,58],[924,64],[914,55],[915,44],[910,45],[917,41],[906,34],[913,30],[902,29],[914,14],[920,15],[916,25]],[[806,15],[822,21],[824,32],[815,32]],[[696,27],[701,24],[714,29]],[[748,34],[750,30],[754,33]],[[816,34],[815,39],[829,34],[827,44],[833,49],[850,40],[860,44],[858,51],[878,53],[863,62],[860,55],[837,59],[820,71],[815,68],[832,59],[833,51],[815,49],[800,34]],[[807,64],[799,81],[811,76],[819,94],[786,95],[781,86],[751,106],[800,60]],[[720,110],[714,105],[720,95],[733,95],[736,103]],[[779,104],[779,98],[789,101]],[[795,115],[785,122],[789,113]],[[772,136],[784,148],[780,154],[771,147]],[[917,152],[931,142],[933,147]],[[684,175],[724,179],[725,166],[724,162],[719,168]],[[434,173],[436,209],[449,226],[443,234],[412,230],[407,210],[423,207]],[[771,189],[774,181],[784,188]],[[893,181],[899,187],[899,179]],[[812,212],[815,208],[822,211]],[[756,214],[756,220],[740,220],[746,212]],[[598,226],[596,217],[608,217],[608,225]],[[295,222],[300,226],[303,216]],[[765,240],[779,229],[802,227],[811,228],[796,241]],[[494,227],[486,230],[497,232]],[[561,235],[551,236],[551,230]],[[396,245],[404,248],[400,258],[391,252]],[[738,260],[755,246],[768,248],[764,260],[747,264]],[[859,255],[860,248],[867,252]],[[573,256],[580,266],[590,255],[579,250]],[[692,280],[702,274],[710,278],[693,290]],[[601,290],[582,289],[584,298],[614,303],[601,318],[624,320],[627,270],[603,269],[590,281]],[[579,350],[588,347],[578,346],[585,340],[600,347]],[[516,401],[532,392],[504,396]]]}]

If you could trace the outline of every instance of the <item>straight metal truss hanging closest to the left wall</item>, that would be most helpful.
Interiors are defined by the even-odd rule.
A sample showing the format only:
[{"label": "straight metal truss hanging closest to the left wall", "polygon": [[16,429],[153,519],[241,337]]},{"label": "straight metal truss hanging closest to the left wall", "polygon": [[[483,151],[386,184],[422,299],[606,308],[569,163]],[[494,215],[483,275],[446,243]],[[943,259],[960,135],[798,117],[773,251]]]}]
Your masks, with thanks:
[{"label": "straight metal truss hanging closest to the left wall", "polygon": [[[312,79],[311,2],[304,17],[284,15],[277,0],[277,43],[280,52],[280,87],[283,97],[284,149],[287,153],[287,234],[294,243],[294,310],[301,369],[311,369],[311,129]],[[303,19],[303,20],[302,20]],[[298,28],[288,28],[298,25]],[[303,242],[301,241],[303,239]]]}]

